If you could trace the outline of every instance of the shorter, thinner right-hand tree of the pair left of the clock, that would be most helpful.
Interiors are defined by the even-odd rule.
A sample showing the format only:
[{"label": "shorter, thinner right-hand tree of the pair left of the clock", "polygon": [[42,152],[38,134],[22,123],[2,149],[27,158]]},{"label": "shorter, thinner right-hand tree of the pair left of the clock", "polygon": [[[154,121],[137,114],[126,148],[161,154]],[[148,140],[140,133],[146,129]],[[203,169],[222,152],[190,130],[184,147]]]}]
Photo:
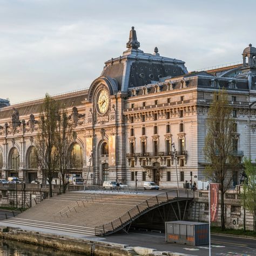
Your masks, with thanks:
[{"label": "shorter, thinner right-hand tree of the pair left of the clock", "polygon": [[68,114],[63,109],[59,112],[56,126],[56,150],[59,155],[59,174],[62,180],[62,192],[68,186],[68,172],[71,163],[70,146],[75,140],[73,126],[69,122]]}]

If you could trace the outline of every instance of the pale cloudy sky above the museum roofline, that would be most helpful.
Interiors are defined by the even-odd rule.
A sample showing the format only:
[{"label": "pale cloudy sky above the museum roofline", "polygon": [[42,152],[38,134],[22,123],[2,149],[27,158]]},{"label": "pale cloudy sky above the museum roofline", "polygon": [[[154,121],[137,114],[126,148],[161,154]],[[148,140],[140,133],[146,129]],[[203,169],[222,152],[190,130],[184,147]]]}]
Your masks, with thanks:
[{"label": "pale cloudy sky above the museum roofline", "polygon": [[0,98],[11,104],[84,89],[104,62],[140,49],[188,71],[242,60],[255,37],[256,1],[0,0]]}]

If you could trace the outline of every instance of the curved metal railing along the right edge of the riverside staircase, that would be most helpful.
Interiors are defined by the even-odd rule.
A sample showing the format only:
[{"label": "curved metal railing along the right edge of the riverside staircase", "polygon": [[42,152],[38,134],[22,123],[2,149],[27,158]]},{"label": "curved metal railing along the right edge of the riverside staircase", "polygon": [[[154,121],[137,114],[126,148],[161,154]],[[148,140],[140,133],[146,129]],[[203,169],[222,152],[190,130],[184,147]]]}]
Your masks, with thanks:
[{"label": "curved metal railing along the right edge of the riverside staircase", "polygon": [[[179,197],[177,190],[171,190],[168,192],[164,192],[158,194],[157,196],[153,196],[149,199],[144,200],[142,203],[137,204],[136,206],[130,208],[129,211],[124,213],[122,216],[118,217],[117,219],[111,221],[110,223],[106,223],[103,225],[99,225],[95,227],[95,235],[103,236],[106,234],[111,234],[122,230],[130,224],[133,220],[137,219],[140,215],[153,210],[156,207],[169,203],[171,200],[179,201],[184,200],[183,197],[180,197],[180,193],[183,190],[180,190]],[[185,192],[185,191],[184,191]],[[185,198],[188,199],[188,192],[185,192]]]}]

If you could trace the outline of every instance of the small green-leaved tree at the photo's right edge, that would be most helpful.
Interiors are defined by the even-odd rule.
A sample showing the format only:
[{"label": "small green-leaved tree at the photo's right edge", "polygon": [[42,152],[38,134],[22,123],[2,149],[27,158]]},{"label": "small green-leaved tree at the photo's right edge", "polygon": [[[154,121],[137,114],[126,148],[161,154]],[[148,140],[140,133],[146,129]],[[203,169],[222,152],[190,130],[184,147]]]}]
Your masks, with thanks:
[{"label": "small green-leaved tree at the photo's right edge", "polygon": [[244,158],[247,178],[242,186],[242,203],[253,214],[253,231],[256,231],[256,166],[251,158]]}]

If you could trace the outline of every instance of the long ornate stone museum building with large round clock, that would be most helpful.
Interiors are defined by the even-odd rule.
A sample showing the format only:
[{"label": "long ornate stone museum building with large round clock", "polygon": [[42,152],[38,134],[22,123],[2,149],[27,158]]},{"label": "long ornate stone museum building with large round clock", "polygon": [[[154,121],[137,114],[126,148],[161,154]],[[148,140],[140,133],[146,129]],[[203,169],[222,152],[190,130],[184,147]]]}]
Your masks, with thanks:
[{"label": "long ornate stone museum building with large round clock", "polygon": [[[177,176],[180,186],[203,180],[207,109],[222,87],[235,120],[232,154],[240,161],[256,158],[256,48],[244,49],[241,64],[188,72],[184,61],[139,47],[132,27],[127,50],[105,62],[89,89],[53,96],[68,110],[76,132],[70,174],[97,185],[118,180],[135,186],[137,179],[139,187],[144,181],[176,187]],[[35,158],[42,102],[1,106],[2,179],[17,173],[26,182],[43,180]],[[241,170],[232,172],[238,184]]]}]

